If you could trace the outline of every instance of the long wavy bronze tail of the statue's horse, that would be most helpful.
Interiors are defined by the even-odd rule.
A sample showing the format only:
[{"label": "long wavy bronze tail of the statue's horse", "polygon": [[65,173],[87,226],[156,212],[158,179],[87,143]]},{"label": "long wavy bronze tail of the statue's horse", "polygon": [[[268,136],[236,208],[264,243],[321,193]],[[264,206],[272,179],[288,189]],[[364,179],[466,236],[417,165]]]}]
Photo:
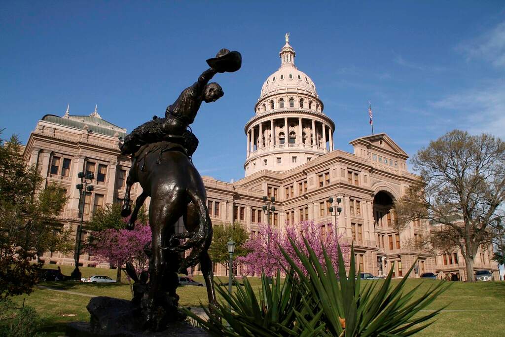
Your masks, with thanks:
[{"label": "long wavy bronze tail of the statue's horse", "polygon": [[198,212],[199,224],[195,233],[184,244],[177,247],[183,250],[192,248],[191,253],[182,260],[179,272],[196,266],[199,262],[199,256],[209,249],[212,242],[212,222],[205,206],[205,200],[202,200],[201,196],[192,189],[188,189],[188,196]]}]

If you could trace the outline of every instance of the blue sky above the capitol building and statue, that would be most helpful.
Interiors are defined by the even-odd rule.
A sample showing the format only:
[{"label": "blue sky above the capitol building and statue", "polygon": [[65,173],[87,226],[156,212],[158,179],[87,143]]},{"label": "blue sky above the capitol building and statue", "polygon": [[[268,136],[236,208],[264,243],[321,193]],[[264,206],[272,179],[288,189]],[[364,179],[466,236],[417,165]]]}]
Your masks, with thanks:
[{"label": "blue sky above the capitol building and statue", "polygon": [[4,2],[0,127],[25,142],[45,114],[98,113],[132,130],[163,115],[222,47],[242,69],[192,125],[203,175],[243,177],[243,126],[284,34],[336,124],[337,149],[386,132],[410,155],[448,130],[505,138],[502,2]]}]

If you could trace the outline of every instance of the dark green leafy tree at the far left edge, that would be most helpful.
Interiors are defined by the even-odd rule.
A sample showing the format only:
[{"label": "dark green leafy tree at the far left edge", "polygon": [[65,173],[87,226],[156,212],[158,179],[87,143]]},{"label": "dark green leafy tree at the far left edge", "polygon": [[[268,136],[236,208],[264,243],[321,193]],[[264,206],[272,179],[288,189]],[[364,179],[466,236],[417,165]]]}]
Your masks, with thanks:
[{"label": "dark green leafy tree at the far left edge", "polygon": [[0,298],[5,298],[31,293],[41,254],[68,252],[72,243],[70,229],[57,219],[65,190],[57,185],[40,189],[43,178],[23,162],[16,136],[5,143],[0,138],[0,177]]}]

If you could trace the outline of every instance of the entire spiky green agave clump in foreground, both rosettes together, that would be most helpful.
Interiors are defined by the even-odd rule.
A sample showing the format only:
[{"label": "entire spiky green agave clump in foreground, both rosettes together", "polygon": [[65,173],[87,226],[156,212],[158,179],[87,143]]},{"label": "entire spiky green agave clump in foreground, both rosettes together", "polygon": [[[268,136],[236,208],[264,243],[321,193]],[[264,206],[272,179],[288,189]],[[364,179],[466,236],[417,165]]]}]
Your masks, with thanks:
[{"label": "entire spiky green agave clump in foreground, both rosettes together", "polygon": [[324,251],[325,267],[305,240],[308,255],[290,240],[290,244],[305,270],[294,262],[281,248],[290,265],[281,280],[280,272],[272,286],[262,275],[259,297],[244,278],[244,285],[237,285],[235,294],[224,287],[217,292],[224,299],[204,310],[209,320],[185,310],[197,324],[214,336],[409,336],[421,331],[440,310],[427,315],[417,315],[430,305],[448,285],[439,282],[418,298],[419,285],[404,294],[403,288],[413,267],[395,286],[391,284],[392,269],[384,280],[367,283],[361,287],[351,248],[348,276],[342,252],[338,248],[338,272]]}]

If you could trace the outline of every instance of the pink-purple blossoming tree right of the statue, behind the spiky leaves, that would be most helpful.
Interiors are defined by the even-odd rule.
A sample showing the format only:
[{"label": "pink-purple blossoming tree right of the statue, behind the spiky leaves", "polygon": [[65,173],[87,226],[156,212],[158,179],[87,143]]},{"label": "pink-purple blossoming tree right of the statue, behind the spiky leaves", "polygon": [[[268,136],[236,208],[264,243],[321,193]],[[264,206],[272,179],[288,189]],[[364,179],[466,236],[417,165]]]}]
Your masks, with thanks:
[{"label": "pink-purple blossoming tree right of the statue, behind the spiky leaves", "polygon": [[[277,270],[289,268],[289,263],[280,250],[282,248],[301,270],[305,270],[300,259],[296,256],[293,245],[289,241],[290,239],[305,254],[308,254],[308,251],[304,239],[307,240],[309,247],[315,252],[320,263],[326,266],[323,254],[324,247],[333,263],[333,267],[338,270],[340,236],[335,239],[331,223],[316,224],[314,220],[301,221],[297,225],[286,226],[284,232],[276,230],[270,225],[262,224],[259,235],[252,237],[245,244],[245,248],[250,252],[238,260],[245,265],[247,273],[261,275],[262,272],[265,272],[266,275],[273,276],[277,273]],[[340,248],[343,252],[344,261],[347,263],[349,250],[345,246]]]}]

